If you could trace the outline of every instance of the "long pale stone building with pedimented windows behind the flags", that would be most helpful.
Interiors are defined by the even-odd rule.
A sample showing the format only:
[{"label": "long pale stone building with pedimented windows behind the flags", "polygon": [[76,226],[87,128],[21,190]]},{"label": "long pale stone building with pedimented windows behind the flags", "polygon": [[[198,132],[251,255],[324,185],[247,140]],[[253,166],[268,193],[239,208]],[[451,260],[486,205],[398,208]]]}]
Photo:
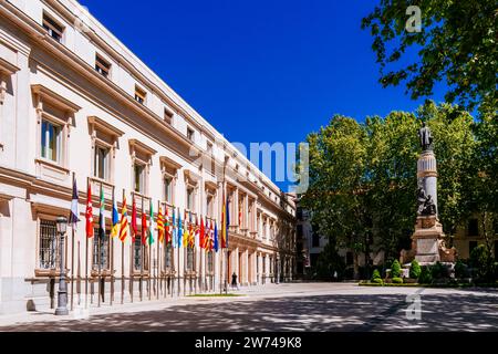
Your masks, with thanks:
[{"label": "long pale stone building with pedimented windows behind the flags", "polygon": [[[69,215],[73,178],[82,221],[64,249],[70,305],[217,292],[234,272],[242,285],[292,278],[292,198],[76,1],[2,0],[0,314],[54,308],[55,219]],[[104,238],[85,236],[89,185],[95,228],[104,191]],[[204,218],[220,228],[224,195],[224,251],[110,237],[113,198],[121,211],[126,197],[128,217],[135,200],[138,229],[149,205],[184,227]]]}]

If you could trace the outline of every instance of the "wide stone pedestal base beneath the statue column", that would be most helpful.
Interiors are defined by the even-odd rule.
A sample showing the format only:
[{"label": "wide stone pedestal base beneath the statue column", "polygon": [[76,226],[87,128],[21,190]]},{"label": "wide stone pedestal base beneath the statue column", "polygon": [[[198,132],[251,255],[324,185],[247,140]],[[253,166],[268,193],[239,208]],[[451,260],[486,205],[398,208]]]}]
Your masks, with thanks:
[{"label": "wide stone pedestal base beneath the statue column", "polygon": [[415,232],[412,236],[412,249],[402,250],[403,264],[416,260],[421,264],[435,262],[455,262],[455,248],[446,248],[443,226],[435,215],[418,216]]}]

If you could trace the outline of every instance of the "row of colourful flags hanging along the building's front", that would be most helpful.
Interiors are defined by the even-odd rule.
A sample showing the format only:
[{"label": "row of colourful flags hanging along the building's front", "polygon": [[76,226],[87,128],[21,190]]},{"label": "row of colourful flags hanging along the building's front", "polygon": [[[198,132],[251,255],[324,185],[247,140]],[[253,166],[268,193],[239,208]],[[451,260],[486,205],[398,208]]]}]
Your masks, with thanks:
[{"label": "row of colourful flags hanging along the building's front", "polygon": [[[94,237],[94,226],[93,226],[93,204],[92,204],[92,187],[89,184],[86,191],[86,210],[85,210],[85,231],[86,237]],[[154,230],[155,225],[157,225],[157,239],[160,243],[170,244],[174,248],[194,248],[200,247],[207,251],[228,248],[228,225],[230,222],[229,216],[229,201],[228,198],[225,199],[224,192],[224,205],[221,209],[221,230],[218,235],[218,225],[216,220],[206,218],[197,218],[195,216],[195,222],[193,216],[189,212],[188,223],[187,223],[187,211],[184,211],[184,221],[181,221],[181,214],[179,208],[173,208],[172,216],[168,215],[168,208],[165,208],[165,214],[159,206],[157,212],[157,218],[154,218],[154,209],[152,199],[149,199],[148,215],[142,210],[142,229],[138,233],[137,225],[137,208],[135,205],[135,199],[132,204],[132,220],[128,225],[128,214],[127,214],[127,202],[126,196],[123,196],[123,206],[121,209],[121,215],[117,212],[116,199],[113,197],[113,207],[111,215],[111,237],[118,237],[122,242],[125,242],[129,236],[132,242],[135,242],[137,235],[141,236],[142,244],[154,243]],[[105,204],[104,204],[104,190],[101,185],[100,190],[100,210],[98,210],[98,237],[105,235]],[[73,181],[73,195],[71,201],[71,211],[69,223],[75,229],[80,219],[77,218],[77,187],[76,180]],[[177,211],[176,211],[177,210]],[[176,211],[176,212],[175,212]],[[200,222],[199,222],[200,219]],[[206,220],[206,221],[205,221]],[[129,227],[132,230],[129,230]],[[132,231],[132,232],[131,232]]]}]

